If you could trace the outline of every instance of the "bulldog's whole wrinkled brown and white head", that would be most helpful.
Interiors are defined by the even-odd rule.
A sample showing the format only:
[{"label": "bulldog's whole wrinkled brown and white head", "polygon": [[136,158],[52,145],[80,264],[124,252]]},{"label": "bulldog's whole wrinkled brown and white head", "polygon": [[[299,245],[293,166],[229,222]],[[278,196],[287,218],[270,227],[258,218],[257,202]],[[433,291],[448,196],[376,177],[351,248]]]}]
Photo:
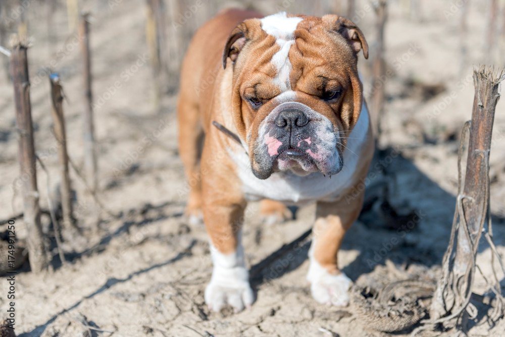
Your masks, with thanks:
[{"label": "bulldog's whole wrinkled brown and white head", "polygon": [[342,169],[346,136],[363,103],[357,52],[366,45],[342,20],[279,13],[246,20],[243,36],[229,41],[233,116],[256,177]]}]

